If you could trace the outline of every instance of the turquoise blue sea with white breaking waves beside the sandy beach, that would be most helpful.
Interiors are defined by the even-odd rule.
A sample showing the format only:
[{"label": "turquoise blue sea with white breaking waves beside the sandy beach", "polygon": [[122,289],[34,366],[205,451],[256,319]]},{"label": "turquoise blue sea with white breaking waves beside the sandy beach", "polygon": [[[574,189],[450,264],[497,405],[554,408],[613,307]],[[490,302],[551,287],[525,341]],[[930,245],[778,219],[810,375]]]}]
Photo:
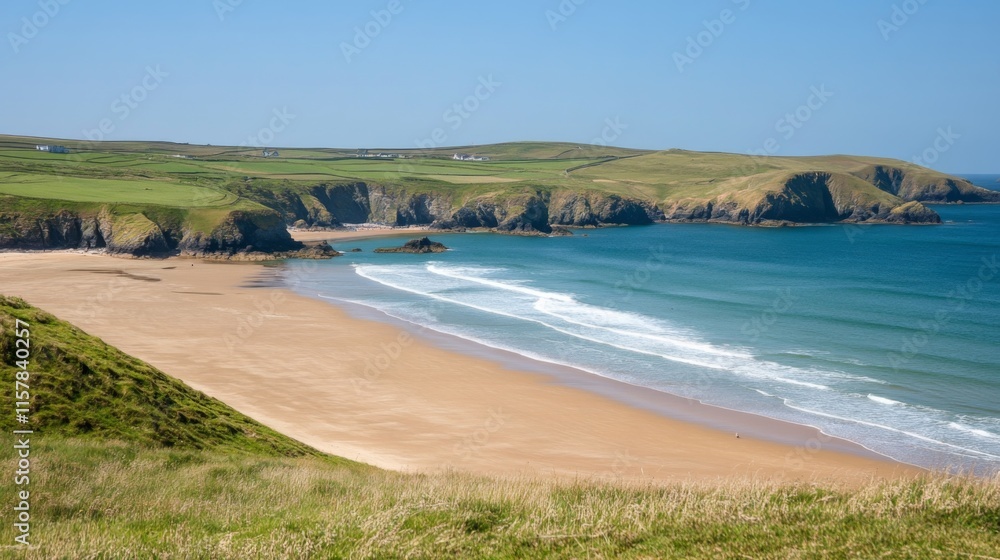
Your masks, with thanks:
[{"label": "turquoise blue sea with white breaking waves beside the sandy beach", "polygon": [[1000,206],[935,209],[945,224],[441,235],[452,250],[426,256],[354,241],[335,247],[364,252],[290,272],[331,304],[913,464],[1000,471]]}]

